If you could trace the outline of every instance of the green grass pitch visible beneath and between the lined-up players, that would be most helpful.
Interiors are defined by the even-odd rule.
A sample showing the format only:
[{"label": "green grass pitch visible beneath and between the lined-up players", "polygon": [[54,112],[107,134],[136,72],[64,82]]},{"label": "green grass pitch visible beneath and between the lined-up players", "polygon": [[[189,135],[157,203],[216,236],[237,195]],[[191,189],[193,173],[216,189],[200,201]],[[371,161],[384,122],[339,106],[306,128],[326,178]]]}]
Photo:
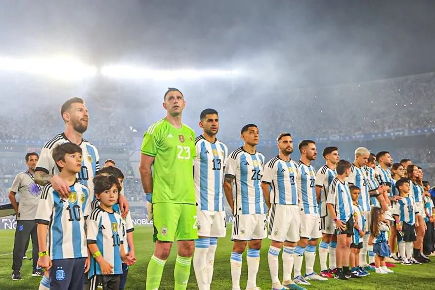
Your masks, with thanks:
[{"label": "green grass pitch visible beneath and between the lined-up players", "polygon": [[[23,261],[21,281],[12,281],[10,269],[12,265],[12,255],[4,255],[12,252],[14,231],[0,231],[0,290],[35,290],[39,287],[40,278],[32,277],[32,261]],[[145,289],[146,267],[153,253],[154,243],[152,242],[152,228],[137,226],[134,231],[134,242],[136,247],[137,263],[132,266],[127,279],[127,290],[143,290]],[[29,248],[31,248],[29,246]],[[257,276],[257,285],[263,290],[271,288],[269,268],[267,265],[267,250],[269,241],[264,240],[261,248],[260,271]],[[232,249],[230,240],[230,227],[227,232],[227,238],[219,239],[217,243],[217,252],[215,260],[215,273],[212,284],[212,290],[230,290],[231,289],[231,273],[229,258]],[[27,252],[30,256],[31,252]],[[174,289],[174,263],[176,257],[176,244],[171,252],[171,256],[165,266],[163,279],[160,286],[161,290]],[[281,259],[280,259],[281,261]],[[318,256],[315,264],[315,270],[319,270]],[[393,269],[395,273],[388,275],[376,275],[374,272],[368,277],[362,279],[352,279],[351,281],[338,281],[331,279],[325,282],[313,282],[307,289],[435,289],[435,258],[434,262],[425,265],[402,266],[397,265]],[[280,264],[280,272],[282,273],[282,263]],[[304,272],[304,266],[303,266]],[[282,278],[282,276],[280,276]],[[247,281],[247,266],[246,254],[243,257],[243,271],[241,277],[241,287],[246,287]],[[192,271],[187,289],[197,289],[195,274]]]}]

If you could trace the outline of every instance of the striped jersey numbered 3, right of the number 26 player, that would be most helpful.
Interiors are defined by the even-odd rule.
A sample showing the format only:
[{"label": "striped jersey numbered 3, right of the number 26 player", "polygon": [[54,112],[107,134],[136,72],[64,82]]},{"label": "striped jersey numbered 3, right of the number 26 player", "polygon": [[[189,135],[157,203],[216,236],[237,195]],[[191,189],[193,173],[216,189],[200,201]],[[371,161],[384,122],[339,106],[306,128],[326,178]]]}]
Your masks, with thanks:
[{"label": "striped jersey numbered 3, right of the number 26 player", "polygon": [[270,203],[298,205],[298,166],[275,156],[264,164],[262,183],[270,185]]}]

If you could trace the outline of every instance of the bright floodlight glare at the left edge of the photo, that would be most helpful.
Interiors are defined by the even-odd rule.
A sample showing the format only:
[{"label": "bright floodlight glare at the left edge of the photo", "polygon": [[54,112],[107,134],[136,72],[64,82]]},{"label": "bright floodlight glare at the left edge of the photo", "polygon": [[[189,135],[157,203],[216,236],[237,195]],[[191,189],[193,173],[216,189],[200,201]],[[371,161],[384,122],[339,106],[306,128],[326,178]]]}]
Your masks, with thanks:
[{"label": "bright floodlight glare at the left edge of the photo", "polygon": [[61,79],[95,76],[97,69],[72,57],[23,58],[0,57],[0,70],[45,75]]}]

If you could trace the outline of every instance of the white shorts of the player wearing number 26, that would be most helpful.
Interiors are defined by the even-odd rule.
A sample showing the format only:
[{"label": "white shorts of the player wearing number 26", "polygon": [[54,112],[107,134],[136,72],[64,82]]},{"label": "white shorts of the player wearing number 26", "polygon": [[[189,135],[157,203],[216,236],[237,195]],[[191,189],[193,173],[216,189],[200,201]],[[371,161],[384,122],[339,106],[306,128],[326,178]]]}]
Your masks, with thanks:
[{"label": "white shorts of the player wearing number 26", "polygon": [[267,237],[266,214],[236,214],[231,240],[251,241]]}]

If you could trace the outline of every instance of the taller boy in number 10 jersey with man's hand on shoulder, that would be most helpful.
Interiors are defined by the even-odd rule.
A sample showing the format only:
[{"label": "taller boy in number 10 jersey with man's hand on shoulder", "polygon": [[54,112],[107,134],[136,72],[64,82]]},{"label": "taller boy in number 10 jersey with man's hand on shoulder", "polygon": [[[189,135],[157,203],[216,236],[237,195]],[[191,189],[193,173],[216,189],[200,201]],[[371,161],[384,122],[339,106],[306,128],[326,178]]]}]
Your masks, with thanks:
[{"label": "taller boy in number 10 jersey with man's hand on shoulder", "polygon": [[52,150],[52,156],[59,177],[68,183],[71,193],[65,200],[50,184],[44,187],[35,216],[40,248],[38,265],[49,270],[49,279],[43,277],[44,287],[83,290],[89,270],[85,219],[90,201],[89,190],[76,179],[82,168],[82,148],[64,143]]}]

